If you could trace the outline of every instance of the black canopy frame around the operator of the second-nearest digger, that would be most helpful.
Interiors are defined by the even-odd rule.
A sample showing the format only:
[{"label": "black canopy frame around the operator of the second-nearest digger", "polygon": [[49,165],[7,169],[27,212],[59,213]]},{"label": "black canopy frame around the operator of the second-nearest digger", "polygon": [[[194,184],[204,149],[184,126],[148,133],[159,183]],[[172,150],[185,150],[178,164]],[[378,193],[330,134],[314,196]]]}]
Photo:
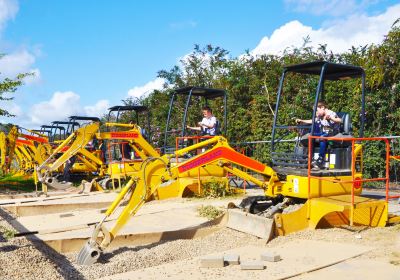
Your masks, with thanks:
[{"label": "black canopy frame around the operator of the second-nearest digger", "polygon": [[[181,100],[177,100],[180,97]],[[187,129],[186,125],[189,124],[188,119],[189,119],[189,111],[191,105],[194,104],[201,104],[202,106],[210,106],[210,103],[212,100],[217,100],[217,99],[222,99],[222,112],[217,112],[217,110],[214,108],[214,114],[215,113],[222,113],[219,114],[220,118],[223,119],[222,122],[222,128],[221,122],[218,121],[217,123],[217,130],[221,132],[221,134],[226,135],[226,130],[227,130],[227,93],[223,89],[214,89],[214,88],[206,88],[206,87],[184,87],[184,88],[179,88],[174,90],[174,92],[171,95],[170,99],[170,104],[169,104],[169,110],[168,110],[168,117],[167,117],[167,124],[165,126],[165,134],[164,134],[164,145],[162,148],[162,152],[165,153],[167,150],[171,149],[171,145],[173,144],[171,139],[172,135],[176,135],[177,133],[180,134],[180,136],[184,137],[187,136]],[[183,114],[182,116],[182,127],[180,128],[174,128],[172,129],[171,126],[176,125],[173,124],[173,111],[174,108],[178,107],[175,103],[178,102],[183,103],[183,112],[179,112]],[[210,106],[212,107],[212,106]],[[213,109],[213,108],[211,108]],[[199,109],[197,108],[197,111]],[[198,112],[196,112],[198,113]],[[177,115],[177,114],[176,114]],[[217,118],[218,119],[218,118]],[[179,122],[179,116],[178,119],[175,117],[175,121]],[[196,119],[196,120],[191,120],[192,122],[197,123],[201,119]],[[193,125],[191,123],[191,125]]]}]

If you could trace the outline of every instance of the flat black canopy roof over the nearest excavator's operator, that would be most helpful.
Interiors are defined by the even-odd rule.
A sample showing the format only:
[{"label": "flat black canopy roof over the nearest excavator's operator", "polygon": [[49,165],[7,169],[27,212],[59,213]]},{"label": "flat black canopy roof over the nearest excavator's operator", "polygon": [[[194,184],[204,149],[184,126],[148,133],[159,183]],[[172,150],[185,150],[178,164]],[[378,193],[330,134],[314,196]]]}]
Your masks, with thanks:
[{"label": "flat black canopy roof over the nearest excavator's operator", "polygon": [[326,80],[341,80],[346,78],[357,78],[361,77],[364,70],[361,67],[348,65],[348,64],[337,64],[327,61],[314,61],[304,64],[296,64],[285,66],[284,69],[289,72],[295,72],[300,74],[320,75],[322,67],[325,66],[325,79]]}]

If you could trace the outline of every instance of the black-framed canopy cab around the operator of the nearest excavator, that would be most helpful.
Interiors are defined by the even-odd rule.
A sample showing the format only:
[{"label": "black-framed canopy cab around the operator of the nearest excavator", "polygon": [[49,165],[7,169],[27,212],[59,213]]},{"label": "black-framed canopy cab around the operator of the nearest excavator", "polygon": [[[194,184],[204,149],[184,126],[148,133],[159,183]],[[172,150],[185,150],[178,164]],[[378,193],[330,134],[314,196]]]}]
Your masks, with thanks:
[{"label": "black-framed canopy cab around the operator of the nearest excavator", "polygon": [[[354,82],[354,79],[360,79],[361,85]],[[360,106],[356,113],[350,116],[349,111],[352,108],[349,101],[354,100],[355,96],[358,96]],[[281,173],[296,174],[296,170],[300,170],[304,175],[307,171],[308,135],[316,135],[317,104],[321,100],[328,101],[328,109],[336,112],[341,118],[342,123],[338,131],[340,136],[350,137],[350,133],[353,132],[352,122],[359,128],[358,136],[363,136],[365,72],[361,67],[327,61],[286,66],[279,83],[271,141],[272,166]],[[353,109],[352,111],[354,112]],[[312,124],[296,125],[296,118],[311,119]],[[318,141],[312,142],[312,155],[318,155]],[[351,145],[351,142],[344,142]],[[329,160],[333,162],[332,166],[335,166],[337,172],[340,169],[347,174],[351,153],[344,142],[333,143],[330,149],[332,154],[328,156],[331,156]],[[332,170],[325,173],[332,172],[335,173]],[[339,173],[336,175],[342,174]]]}]

